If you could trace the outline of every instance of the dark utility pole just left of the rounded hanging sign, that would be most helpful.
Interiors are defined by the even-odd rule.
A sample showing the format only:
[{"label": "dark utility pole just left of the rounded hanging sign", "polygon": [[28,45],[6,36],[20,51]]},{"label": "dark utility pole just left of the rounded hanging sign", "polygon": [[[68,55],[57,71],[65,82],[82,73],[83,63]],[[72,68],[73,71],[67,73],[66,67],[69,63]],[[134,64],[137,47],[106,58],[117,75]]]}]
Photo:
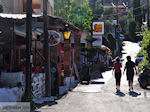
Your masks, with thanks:
[{"label": "dark utility pole just left of the rounded hanging sign", "polygon": [[47,2],[43,0],[43,20],[44,20],[44,55],[45,55],[45,96],[51,96],[51,74],[50,74],[50,48],[48,39],[48,17]]}]

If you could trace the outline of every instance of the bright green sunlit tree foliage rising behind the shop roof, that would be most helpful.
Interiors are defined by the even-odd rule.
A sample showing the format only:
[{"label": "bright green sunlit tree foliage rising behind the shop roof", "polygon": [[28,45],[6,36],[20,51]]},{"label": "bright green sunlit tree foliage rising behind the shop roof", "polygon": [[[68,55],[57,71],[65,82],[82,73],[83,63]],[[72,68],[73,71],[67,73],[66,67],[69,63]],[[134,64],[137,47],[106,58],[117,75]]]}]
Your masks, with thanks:
[{"label": "bright green sunlit tree foliage rising behind the shop roof", "polygon": [[88,0],[77,4],[75,0],[55,0],[55,16],[61,17],[82,30],[91,30],[92,9]]}]

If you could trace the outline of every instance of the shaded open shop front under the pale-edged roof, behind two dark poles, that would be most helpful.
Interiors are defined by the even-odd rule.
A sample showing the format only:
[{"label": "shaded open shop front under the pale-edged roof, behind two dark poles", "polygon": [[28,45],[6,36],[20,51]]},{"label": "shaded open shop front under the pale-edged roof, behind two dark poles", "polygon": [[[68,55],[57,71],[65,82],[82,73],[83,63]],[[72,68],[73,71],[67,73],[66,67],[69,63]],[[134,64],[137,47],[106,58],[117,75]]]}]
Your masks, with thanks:
[{"label": "shaded open shop front under the pale-edged roof, behind two dark poles", "polygon": [[[26,16],[22,14],[4,14],[0,15],[0,70],[1,74],[4,75],[16,73],[19,82],[23,82],[25,86],[26,75]],[[51,93],[53,96],[59,95],[59,87],[65,85],[63,79],[64,69],[64,28],[68,24],[71,29],[74,39],[77,37],[77,33],[80,31],[75,26],[65,22],[64,20],[48,16],[48,32],[49,32],[49,47],[50,47],[50,67],[51,67]],[[35,98],[45,96],[45,58],[44,58],[44,37],[43,37],[43,17],[41,15],[33,15],[32,24],[32,55],[31,66],[32,66],[32,87]],[[69,43],[71,45],[71,43]],[[75,43],[74,43],[75,45]],[[73,63],[73,57],[76,55],[73,53],[73,47],[70,50],[70,66]],[[77,49],[74,51],[76,53]],[[74,56],[73,56],[74,55]],[[77,62],[78,63],[78,62]],[[80,68],[80,67],[78,67]],[[20,73],[20,74],[18,74]],[[7,75],[7,78],[13,75]],[[64,76],[64,77],[63,77]],[[5,78],[7,80],[7,78]],[[7,82],[6,82],[7,83]],[[11,85],[9,85],[11,86]]]}]

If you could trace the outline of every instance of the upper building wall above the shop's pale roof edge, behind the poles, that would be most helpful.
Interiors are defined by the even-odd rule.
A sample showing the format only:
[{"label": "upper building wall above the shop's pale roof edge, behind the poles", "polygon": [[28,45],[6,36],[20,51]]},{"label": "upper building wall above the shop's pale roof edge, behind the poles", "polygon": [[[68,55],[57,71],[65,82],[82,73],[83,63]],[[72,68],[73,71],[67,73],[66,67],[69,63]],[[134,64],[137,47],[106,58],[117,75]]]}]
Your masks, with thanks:
[{"label": "upper building wall above the shop's pale roof edge, behind the poles", "polygon": [[[26,13],[27,0],[0,0],[4,7],[4,13],[23,14]],[[48,0],[48,15],[54,15],[54,0]],[[43,12],[43,0],[32,0],[33,13]]]}]

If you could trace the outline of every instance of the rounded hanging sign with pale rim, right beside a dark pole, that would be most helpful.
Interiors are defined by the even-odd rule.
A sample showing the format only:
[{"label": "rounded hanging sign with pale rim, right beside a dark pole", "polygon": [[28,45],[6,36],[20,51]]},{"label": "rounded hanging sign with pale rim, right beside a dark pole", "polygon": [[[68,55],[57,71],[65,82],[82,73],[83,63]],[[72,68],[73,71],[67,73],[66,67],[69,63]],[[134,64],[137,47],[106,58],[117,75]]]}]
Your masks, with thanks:
[{"label": "rounded hanging sign with pale rim, right beside a dark pole", "polygon": [[50,46],[55,46],[60,43],[61,35],[58,32],[49,30],[48,34],[49,34],[49,45]]}]

